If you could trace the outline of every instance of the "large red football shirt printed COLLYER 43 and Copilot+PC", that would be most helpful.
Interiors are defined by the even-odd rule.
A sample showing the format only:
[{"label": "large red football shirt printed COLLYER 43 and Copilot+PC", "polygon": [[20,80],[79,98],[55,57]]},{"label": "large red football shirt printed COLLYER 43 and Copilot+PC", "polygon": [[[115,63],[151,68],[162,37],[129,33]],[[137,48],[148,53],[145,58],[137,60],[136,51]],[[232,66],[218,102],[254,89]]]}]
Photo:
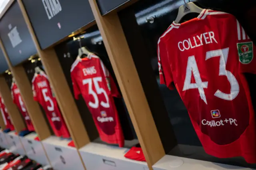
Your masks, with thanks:
[{"label": "large red football shirt printed COLLYER 43 and Copilot+PC", "polygon": [[256,49],[234,16],[203,10],[174,22],[158,41],[160,83],[172,82],[208,154],[256,163],[255,116],[243,73],[256,73]]}]

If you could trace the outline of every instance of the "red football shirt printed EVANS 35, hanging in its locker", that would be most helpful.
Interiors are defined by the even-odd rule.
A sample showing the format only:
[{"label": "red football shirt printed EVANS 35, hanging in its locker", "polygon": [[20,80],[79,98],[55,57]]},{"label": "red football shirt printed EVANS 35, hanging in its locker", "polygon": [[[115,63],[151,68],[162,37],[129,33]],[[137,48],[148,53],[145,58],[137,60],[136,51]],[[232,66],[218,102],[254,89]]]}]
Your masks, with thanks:
[{"label": "red football shirt printed EVANS 35, hanging in its locker", "polygon": [[82,93],[92,113],[100,138],[124,146],[124,136],[113,97],[120,97],[116,85],[99,57],[77,58],[71,68],[74,96]]}]

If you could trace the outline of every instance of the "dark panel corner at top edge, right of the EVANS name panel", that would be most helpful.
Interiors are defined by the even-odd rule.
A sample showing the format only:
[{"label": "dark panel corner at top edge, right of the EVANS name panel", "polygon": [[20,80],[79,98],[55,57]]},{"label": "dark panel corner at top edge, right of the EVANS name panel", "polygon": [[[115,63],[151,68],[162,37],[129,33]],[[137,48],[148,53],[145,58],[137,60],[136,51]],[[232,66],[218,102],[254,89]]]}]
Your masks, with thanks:
[{"label": "dark panel corner at top edge, right of the EVANS name panel", "polygon": [[131,0],[97,0],[102,15],[118,8]]}]

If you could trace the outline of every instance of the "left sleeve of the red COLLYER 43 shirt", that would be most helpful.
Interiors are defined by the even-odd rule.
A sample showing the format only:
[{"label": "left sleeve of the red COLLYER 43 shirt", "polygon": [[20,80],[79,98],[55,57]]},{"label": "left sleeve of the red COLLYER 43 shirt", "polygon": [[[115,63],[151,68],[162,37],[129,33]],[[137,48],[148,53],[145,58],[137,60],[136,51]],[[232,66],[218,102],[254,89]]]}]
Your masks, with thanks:
[{"label": "left sleeve of the red COLLYER 43 shirt", "polygon": [[171,84],[173,82],[173,78],[170,63],[168,61],[168,53],[165,44],[161,40],[161,38],[158,40],[157,53],[160,84],[165,84],[169,89],[172,90],[174,89],[174,87]]}]

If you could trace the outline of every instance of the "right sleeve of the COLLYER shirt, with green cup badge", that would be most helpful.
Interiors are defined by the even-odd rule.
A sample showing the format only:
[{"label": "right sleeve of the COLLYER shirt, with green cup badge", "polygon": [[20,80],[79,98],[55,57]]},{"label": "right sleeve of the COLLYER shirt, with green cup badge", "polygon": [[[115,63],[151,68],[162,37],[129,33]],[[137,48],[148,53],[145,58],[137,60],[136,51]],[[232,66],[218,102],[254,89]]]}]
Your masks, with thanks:
[{"label": "right sleeve of the COLLYER shirt, with green cup badge", "polygon": [[256,46],[244,31],[238,20],[237,24],[237,52],[239,58],[239,71],[241,73],[256,74]]}]

